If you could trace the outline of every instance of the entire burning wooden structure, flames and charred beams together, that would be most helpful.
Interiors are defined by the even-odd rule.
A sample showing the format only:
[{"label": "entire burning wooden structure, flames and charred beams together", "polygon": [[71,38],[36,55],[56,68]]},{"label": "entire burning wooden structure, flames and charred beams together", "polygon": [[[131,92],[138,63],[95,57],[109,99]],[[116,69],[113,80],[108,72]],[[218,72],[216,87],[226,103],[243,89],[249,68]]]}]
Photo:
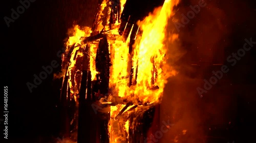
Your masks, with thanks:
[{"label": "entire burning wooden structure, flames and charred beams together", "polygon": [[[178,2],[137,2],[138,9],[131,9],[135,1],[103,0],[92,27],[70,30],[60,96],[66,137],[78,143],[144,142],[143,120],[161,102],[167,79],[177,74],[166,64],[165,41],[178,35],[166,38],[165,31]],[[91,104],[101,107],[97,115]],[[99,124],[91,129],[90,121]]]}]

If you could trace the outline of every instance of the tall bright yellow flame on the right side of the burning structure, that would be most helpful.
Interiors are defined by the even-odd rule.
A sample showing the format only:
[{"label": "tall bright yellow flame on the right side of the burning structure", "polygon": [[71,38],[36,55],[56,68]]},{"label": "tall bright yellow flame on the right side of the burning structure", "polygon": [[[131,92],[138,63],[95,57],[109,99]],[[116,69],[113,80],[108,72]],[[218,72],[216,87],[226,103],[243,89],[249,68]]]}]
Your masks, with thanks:
[{"label": "tall bright yellow flame on the right side of the burning structure", "polygon": [[[166,65],[164,45],[165,28],[167,20],[172,16],[172,9],[178,1],[165,1],[162,8],[158,8],[153,14],[148,15],[143,21],[139,21],[143,34],[140,41],[135,43],[134,65],[138,65],[137,84],[134,94],[144,102],[158,102],[162,96],[164,84],[176,71],[164,71]],[[138,63],[138,64],[137,64]],[[157,74],[156,77],[153,77]],[[153,79],[155,78],[155,79]],[[154,80],[154,83],[152,82]],[[151,91],[148,88],[158,85],[159,90]]]}]

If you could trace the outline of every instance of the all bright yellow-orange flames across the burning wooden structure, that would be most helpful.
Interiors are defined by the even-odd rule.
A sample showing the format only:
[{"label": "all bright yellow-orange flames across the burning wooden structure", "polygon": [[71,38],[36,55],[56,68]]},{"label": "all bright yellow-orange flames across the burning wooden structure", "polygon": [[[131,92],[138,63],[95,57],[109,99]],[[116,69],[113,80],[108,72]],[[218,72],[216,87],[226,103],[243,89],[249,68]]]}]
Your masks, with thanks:
[{"label": "all bright yellow-orange flames across the burning wooden structure", "polygon": [[[126,0],[121,0],[121,11],[123,10],[123,4]],[[111,53],[111,69],[110,69],[110,83],[111,97],[119,96],[125,97],[134,104],[137,102],[142,103],[160,103],[163,95],[164,85],[170,76],[177,74],[172,67],[166,64],[167,57],[165,53],[167,46],[165,42],[167,40],[174,41],[178,38],[178,35],[173,35],[172,38],[166,38],[166,24],[168,18],[174,13],[172,9],[179,3],[178,0],[165,0],[164,5],[161,8],[155,9],[155,11],[149,14],[144,20],[138,21],[142,35],[138,37],[134,46],[134,55],[129,54],[129,40],[123,41],[123,38],[118,35],[118,28],[120,23],[115,23],[114,29],[108,31],[108,41],[110,43],[109,51]],[[103,9],[107,7],[107,1],[103,1],[100,10],[98,12],[98,19],[103,15]],[[100,20],[98,20],[100,21]],[[101,31],[103,28],[102,21],[97,23],[96,31]],[[89,37],[91,32],[90,27],[80,29],[78,25],[73,28],[73,36],[69,37],[67,45],[75,44],[75,48],[71,54],[71,61],[68,65],[68,72],[66,76],[71,76],[75,70],[76,58],[75,52],[79,49],[81,44],[81,37]],[[130,33],[131,35],[131,33]],[[130,35],[129,38],[130,39]],[[90,70],[92,73],[92,80],[95,79],[97,74],[95,68],[95,58],[97,51],[97,44],[89,43],[90,46]],[[70,46],[67,46],[66,51],[69,51]],[[78,52],[77,57],[82,56],[82,53]],[[133,61],[133,67],[129,67],[129,62]],[[133,68],[137,72],[136,78],[137,84],[129,87],[130,68]],[[71,94],[78,94],[78,91],[74,90],[74,84],[72,84],[72,78],[69,78],[69,86]],[[154,86],[158,86],[158,90],[150,90]],[[76,98],[76,97],[75,97]],[[109,123],[110,142],[117,143],[119,140],[124,140],[124,137],[120,136],[123,132],[129,130],[129,120],[115,121],[114,117],[125,105],[118,104],[111,106],[111,119]],[[126,109],[127,110],[127,109]],[[123,119],[120,119],[123,120]],[[122,125],[118,125],[122,123]]]}]

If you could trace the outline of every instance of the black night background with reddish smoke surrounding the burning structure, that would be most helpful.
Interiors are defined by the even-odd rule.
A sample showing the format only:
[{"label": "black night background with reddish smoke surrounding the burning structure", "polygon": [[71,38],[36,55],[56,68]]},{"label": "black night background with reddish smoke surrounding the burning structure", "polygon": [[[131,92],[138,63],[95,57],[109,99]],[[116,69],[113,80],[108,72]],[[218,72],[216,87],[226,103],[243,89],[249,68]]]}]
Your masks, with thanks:
[{"label": "black night background with reddish smoke surrounding the burning structure", "polygon": [[[176,17],[180,19],[180,14],[186,14],[190,10],[189,6],[197,3],[198,1],[192,0],[181,1]],[[167,84],[169,89],[165,91],[165,95],[169,96],[164,96],[167,100],[163,102],[161,117],[164,119],[165,116],[178,114],[180,121],[184,123],[200,122],[200,125],[190,127],[191,130],[198,130],[200,126],[202,129],[200,131],[204,132],[204,136],[220,137],[219,134],[225,134],[222,135],[223,138],[233,139],[234,142],[254,142],[256,134],[256,45],[246,52],[236,66],[230,67],[230,71],[224,75],[219,84],[214,85],[217,88],[213,88],[204,98],[198,96],[196,88],[203,85],[204,78],[209,79],[212,70],[218,70],[220,67],[210,67],[207,64],[200,68],[190,66],[200,62],[203,65],[200,60],[206,59],[207,61],[205,57],[211,56],[213,60],[208,63],[227,64],[225,63],[227,56],[242,48],[245,38],[252,37],[252,41],[256,41],[254,1],[216,0],[206,1],[206,3],[207,6],[201,8],[201,12],[195,18],[191,19],[184,28],[180,28],[180,43],[182,44],[178,51],[183,54],[179,55],[179,60],[176,60],[175,64],[182,72],[180,76],[174,77]],[[29,92],[26,83],[32,83],[33,74],[39,75],[43,71],[41,67],[49,66],[51,61],[56,60],[59,65],[61,64],[61,59],[56,54],[68,37],[67,30],[73,24],[91,26],[97,4],[98,0],[37,0],[31,3],[30,7],[14,22],[11,22],[10,27],[7,27],[3,17],[10,17],[11,9],[16,10],[20,3],[17,0],[2,2],[2,70],[4,71],[2,83],[8,86],[9,92],[9,142],[37,142],[40,138],[58,136],[59,110],[56,105],[61,80],[53,80],[52,73],[42,80],[42,83],[34,88],[32,93]],[[197,47],[199,50],[195,51]],[[210,55],[207,51],[209,47],[214,49]],[[60,66],[55,68],[54,72],[59,70]],[[172,88],[189,90],[180,92],[170,90]],[[183,94],[177,97],[177,93]],[[189,109],[194,105],[198,108]],[[182,120],[186,117],[186,113],[181,115],[181,113],[172,112],[172,109],[193,115],[188,116],[189,118],[196,115],[200,117],[197,116],[188,122],[189,118]],[[224,118],[221,119],[221,117]],[[228,125],[229,121],[231,123]],[[3,122],[0,125],[2,133]],[[182,125],[180,127],[183,129]],[[212,127],[217,127],[219,130],[216,129],[214,133],[209,132],[211,135],[208,131],[204,131]],[[228,132],[227,135],[226,132]],[[166,138],[168,137],[164,137]],[[210,142],[212,138],[208,137],[206,140]]]}]

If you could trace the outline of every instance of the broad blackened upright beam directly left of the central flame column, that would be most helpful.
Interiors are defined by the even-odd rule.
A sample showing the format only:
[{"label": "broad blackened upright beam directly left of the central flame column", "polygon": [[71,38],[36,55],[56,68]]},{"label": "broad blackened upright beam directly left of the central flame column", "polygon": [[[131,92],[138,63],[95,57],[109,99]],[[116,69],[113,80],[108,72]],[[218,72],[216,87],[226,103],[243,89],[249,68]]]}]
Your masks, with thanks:
[{"label": "broad blackened upright beam directly left of the central flame column", "polygon": [[[100,39],[97,53],[96,53],[96,59],[95,59],[96,71],[99,73],[96,75],[96,80],[92,81],[93,83],[92,92],[106,95],[106,93],[108,93],[108,88],[109,88],[109,77],[110,77],[110,66],[111,66],[109,43],[108,43],[108,39],[106,38],[106,35],[104,34],[98,34],[98,35],[89,37],[89,39],[87,39],[87,41],[85,42],[88,42],[89,40],[93,41],[95,39]],[[91,98],[93,101],[95,101],[96,95],[92,96]],[[99,133],[99,142],[109,143],[108,124],[110,120],[110,113],[99,111],[97,113],[97,117],[99,119],[97,122],[98,123],[97,133]]]}]

